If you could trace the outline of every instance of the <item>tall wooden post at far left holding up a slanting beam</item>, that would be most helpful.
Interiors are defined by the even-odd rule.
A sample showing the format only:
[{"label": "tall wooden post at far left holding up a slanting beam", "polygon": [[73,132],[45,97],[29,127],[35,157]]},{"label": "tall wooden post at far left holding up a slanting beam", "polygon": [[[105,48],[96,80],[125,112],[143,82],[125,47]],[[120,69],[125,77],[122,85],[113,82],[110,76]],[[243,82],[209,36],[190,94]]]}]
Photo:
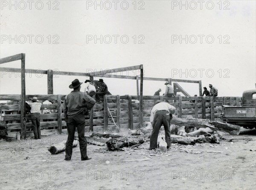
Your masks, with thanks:
[{"label": "tall wooden post at far left holding up a slanting beam", "polygon": [[25,54],[21,54],[21,95],[20,95],[20,136],[26,139],[26,125],[23,124],[23,119],[26,116],[25,101],[26,101],[26,83],[25,83]]}]

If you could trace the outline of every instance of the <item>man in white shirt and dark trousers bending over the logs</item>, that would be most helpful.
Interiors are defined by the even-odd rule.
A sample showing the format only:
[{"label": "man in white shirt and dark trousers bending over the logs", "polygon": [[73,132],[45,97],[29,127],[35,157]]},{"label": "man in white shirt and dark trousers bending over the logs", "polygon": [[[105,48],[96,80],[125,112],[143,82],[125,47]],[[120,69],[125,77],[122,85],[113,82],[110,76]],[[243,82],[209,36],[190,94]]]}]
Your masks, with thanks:
[{"label": "man in white shirt and dark trousers bending over the logs", "polygon": [[150,150],[157,148],[157,137],[162,125],[165,130],[167,148],[171,146],[170,121],[172,120],[173,113],[175,113],[175,107],[169,105],[169,103],[161,100],[157,100],[154,103],[154,107],[152,108],[150,115],[150,122],[153,127],[150,136]]}]

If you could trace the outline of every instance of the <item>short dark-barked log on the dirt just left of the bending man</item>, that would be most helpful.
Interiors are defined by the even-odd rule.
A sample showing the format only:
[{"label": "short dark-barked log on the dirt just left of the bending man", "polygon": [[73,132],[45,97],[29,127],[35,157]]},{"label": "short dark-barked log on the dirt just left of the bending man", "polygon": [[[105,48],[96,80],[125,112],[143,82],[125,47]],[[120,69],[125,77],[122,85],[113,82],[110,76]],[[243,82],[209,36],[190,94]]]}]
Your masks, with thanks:
[{"label": "short dark-barked log on the dirt just left of the bending man", "polygon": [[130,147],[137,144],[142,144],[144,138],[140,136],[122,136],[117,139],[110,139],[106,142],[109,150],[116,150],[122,147]]}]

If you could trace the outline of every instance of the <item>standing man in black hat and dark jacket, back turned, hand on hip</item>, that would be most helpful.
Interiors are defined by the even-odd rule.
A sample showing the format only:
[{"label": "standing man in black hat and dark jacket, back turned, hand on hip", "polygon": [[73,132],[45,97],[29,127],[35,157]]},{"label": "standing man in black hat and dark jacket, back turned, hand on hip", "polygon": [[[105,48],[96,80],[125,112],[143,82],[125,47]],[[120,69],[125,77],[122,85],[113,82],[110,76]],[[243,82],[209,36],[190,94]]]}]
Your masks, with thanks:
[{"label": "standing man in black hat and dark jacket, back turned, hand on hip", "polygon": [[82,82],[78,79],[73,80],[69,88],[73,88],[64,100],[64,117],[67,122],[67,143],[65,160],[70,160],[72,156],[72,147],[74,141],[75,130],[77,128],[79,147],[81,152],[81,160],[91,159],[87,156],[87,140],[84,137],[84,110],[90,110],[95,104],[95,100],[88,94],[80,92]]}]

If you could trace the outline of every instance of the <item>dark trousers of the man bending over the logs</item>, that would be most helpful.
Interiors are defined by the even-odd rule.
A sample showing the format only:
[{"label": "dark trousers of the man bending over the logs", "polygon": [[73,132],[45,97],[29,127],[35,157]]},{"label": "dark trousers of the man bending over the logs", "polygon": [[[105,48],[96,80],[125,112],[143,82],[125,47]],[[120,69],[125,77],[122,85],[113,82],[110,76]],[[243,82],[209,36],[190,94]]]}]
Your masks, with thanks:
[{"label": "dark trousers of the man bending over the logs", "polygon": [[154,116],[154,122],[153,122],[153,130],[150,136],[150,148],[154,149],[157,148],[157,137],[159,130],[161,126],[163,125],[165,130],[165,140],[167,143],[167,146],[171,146],[171,133],[170,133],[170,121],[172,118],[170,118],[170,115],[168,111],[162,110],[157,111]]}]

